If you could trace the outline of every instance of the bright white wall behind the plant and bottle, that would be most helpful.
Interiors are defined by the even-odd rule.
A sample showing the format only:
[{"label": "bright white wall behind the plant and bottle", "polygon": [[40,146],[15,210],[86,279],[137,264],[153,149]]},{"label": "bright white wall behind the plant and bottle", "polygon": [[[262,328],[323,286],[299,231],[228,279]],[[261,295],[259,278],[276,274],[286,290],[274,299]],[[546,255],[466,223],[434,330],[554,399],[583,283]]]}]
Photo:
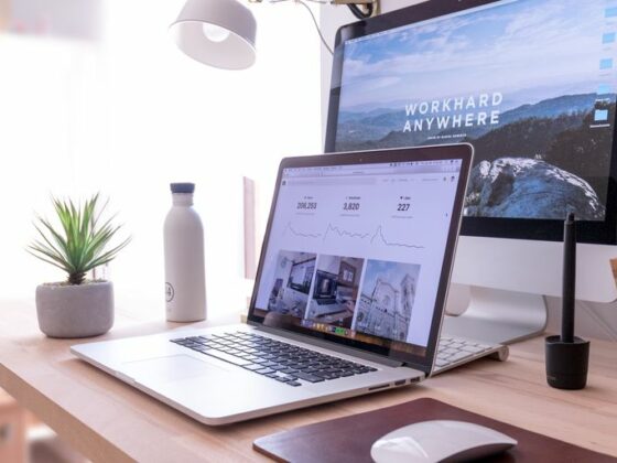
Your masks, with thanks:
[{"label": "bright white wall behind the plant and bottle", "polygon": [[209,310],[246,305],[242,176],[258,180],[263,226],[279,160],[320,151],[320,42],[302,7],[250,4],[257,64],[214,69],[167,36],[182,4],[106,0],[98,42],[0,35],[0,298],[64,278],[23,249],[48,195],[101,191],[133,237],[109,269],[117,299],[162,316],[169,183],[194,181]]}]

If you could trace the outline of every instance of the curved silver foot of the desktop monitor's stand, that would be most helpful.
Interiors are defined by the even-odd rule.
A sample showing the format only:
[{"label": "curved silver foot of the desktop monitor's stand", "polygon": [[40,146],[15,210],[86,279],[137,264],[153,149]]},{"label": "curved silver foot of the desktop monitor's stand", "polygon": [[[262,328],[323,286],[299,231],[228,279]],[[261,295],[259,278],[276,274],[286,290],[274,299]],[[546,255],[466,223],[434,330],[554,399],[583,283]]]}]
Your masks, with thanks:
[{"label": "curved silver foot of the desktop monitor's stand", "polygon": [[470,301],[461,315],[446,315],[442,336],[511,344],[541,334],[546,327],[543,295],[470,287]]}]

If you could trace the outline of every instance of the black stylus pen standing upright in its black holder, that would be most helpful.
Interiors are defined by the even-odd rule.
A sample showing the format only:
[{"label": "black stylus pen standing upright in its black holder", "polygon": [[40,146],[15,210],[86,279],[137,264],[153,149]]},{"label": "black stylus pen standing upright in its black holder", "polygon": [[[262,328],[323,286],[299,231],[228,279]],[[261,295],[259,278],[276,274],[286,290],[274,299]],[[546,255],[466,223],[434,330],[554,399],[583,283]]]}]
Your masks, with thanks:
[{"label": "black stylus pen standing upright in its black holder", "polygon": [[558,389],[583,389],[587,384],[589,342],[574,335],[576,301],[576,223],[570,213],[563,227],[563,306],[561,335],[545,340],[546,381]]}]

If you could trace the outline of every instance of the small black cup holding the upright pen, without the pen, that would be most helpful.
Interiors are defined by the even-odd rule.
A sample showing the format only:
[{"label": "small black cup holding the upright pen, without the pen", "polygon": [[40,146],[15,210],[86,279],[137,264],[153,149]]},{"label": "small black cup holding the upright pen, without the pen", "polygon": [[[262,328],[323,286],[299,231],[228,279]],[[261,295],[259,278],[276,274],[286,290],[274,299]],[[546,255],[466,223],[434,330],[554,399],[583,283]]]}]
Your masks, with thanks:
[{"label": "small black cup holding the upright pen, without the pen", "polygon": [[583,389],[587,384],[589,342],[574,336],[564,343],[561,336],[545,340],[546,383],[558,389]]}]

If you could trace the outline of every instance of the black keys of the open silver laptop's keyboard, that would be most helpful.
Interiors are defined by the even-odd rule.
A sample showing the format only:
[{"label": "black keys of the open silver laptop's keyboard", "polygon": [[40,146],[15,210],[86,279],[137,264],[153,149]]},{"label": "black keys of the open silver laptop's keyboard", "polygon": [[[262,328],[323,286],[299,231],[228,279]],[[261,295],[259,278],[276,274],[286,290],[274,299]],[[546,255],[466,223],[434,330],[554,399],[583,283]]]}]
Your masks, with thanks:
[{"label": "black keys of the open silver laptop's keyboard", "polygon": [[253,333],[209,334],[170,341],[292,387],[302,386],[302,381],[322,383],[377,370]]}]

